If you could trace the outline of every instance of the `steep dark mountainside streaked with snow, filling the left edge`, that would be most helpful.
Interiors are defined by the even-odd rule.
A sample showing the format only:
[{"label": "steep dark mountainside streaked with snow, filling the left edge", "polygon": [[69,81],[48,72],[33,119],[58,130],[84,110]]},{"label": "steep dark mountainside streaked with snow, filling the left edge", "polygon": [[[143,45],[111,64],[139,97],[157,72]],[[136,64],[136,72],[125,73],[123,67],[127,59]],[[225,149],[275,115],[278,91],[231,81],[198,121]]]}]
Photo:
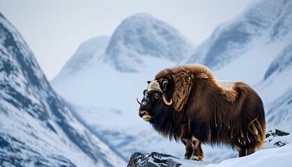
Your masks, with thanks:
[{"label": "steep dark mountainside streaked with snow, filling the left edge", "polygon": [[125,164],[72,115],[0,14],[0,166]]}]

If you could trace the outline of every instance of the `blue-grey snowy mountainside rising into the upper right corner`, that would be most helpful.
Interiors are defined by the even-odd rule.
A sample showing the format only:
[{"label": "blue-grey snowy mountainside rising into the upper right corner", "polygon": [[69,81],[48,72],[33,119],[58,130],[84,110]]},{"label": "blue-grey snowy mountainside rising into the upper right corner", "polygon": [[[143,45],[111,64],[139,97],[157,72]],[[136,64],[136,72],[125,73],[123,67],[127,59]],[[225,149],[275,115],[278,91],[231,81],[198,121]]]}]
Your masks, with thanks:
[{"label": "blue-grey snowy mountainside rising into the upper right corner", "polygon": [[254,1],[243,13],[218,26],[187,62],[217,70],[250,50],[255,53],[250,61],[259,54],[270,61],[270,55],[291,42],[291,8],[291,1]]}]

